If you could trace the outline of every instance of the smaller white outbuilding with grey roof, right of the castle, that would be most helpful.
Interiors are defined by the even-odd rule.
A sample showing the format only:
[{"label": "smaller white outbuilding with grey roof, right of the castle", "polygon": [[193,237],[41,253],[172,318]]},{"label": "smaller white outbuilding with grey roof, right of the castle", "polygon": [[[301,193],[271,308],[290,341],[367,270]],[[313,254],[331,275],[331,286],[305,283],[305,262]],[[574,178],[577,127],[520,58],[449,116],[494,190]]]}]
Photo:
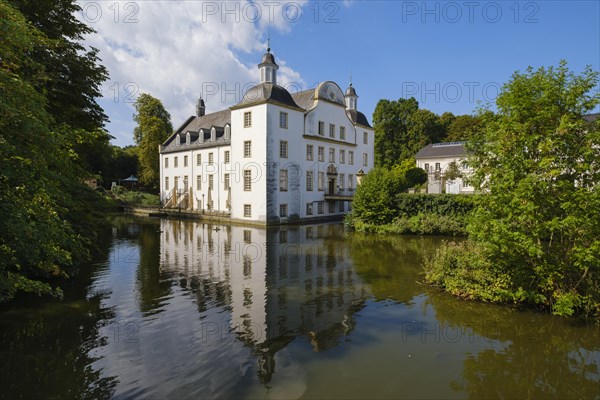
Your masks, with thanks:
[{"label": "smaller white outbuilding with grey roof, right of the castle", "polygon": [[[472,169],[467,163],[465,142],[428,144],[417,153],[415,158],[417,167],[427,172],[427,193],[472,194],[474,192],[474,188],[468,183]],[[462,176],[447,179],[446,174],[452,163],[456,164]]]}]

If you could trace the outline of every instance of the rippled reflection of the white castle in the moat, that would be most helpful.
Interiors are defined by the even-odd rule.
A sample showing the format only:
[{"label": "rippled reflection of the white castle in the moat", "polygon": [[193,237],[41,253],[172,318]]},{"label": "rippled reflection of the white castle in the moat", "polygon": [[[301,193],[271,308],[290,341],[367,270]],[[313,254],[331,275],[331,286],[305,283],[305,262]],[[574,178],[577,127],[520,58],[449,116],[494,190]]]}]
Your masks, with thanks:
[{"label": "rippled reflection of the white castle in the moat", "polygon": [[[230,311],[228,328],[255,351],[263,382],[274,372],[275,353],[298,336],[314,351],[336,346],[367,297],[340,225],[265,229],[163,220],[161,230],[162,268],[180,275],[200,312]],[[216,329],[222,327],[207,331]]]}]

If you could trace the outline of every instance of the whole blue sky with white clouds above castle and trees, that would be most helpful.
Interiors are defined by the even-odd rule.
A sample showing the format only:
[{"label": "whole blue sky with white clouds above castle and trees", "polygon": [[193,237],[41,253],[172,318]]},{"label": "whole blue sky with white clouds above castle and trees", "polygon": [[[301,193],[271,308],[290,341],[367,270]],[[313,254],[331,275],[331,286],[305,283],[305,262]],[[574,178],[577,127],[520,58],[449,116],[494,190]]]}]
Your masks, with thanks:
[{"label": "whole blue sky with white clouds above castle and trees", "polygon": [[119,146],[133,143],[140,92],[163,101],[174,127],[201,93],[208,112],[235,104],[258,81],[268,35],[284,86],[345,89],[352,74],[369,120],[378,100],[410,96],[438,114],[472,113],[528,66],[565,59],[576,72],[600,69],[598,1],[80,4],[97,30],[87,41],[111,74],[101,105]]}]

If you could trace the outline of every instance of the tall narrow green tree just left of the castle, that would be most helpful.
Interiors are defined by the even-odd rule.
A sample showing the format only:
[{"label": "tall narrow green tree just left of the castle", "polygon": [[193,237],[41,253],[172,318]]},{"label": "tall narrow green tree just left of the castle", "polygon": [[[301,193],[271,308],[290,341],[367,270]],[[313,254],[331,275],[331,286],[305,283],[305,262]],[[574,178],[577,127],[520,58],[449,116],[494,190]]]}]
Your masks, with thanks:
[{"label": "tall narrow green tree just left of the castle", "polygon": [[157,187],[160,179],[158,146],[173,133],[171,115],[161,101],[148,93],[142,93],[136,100],[137,126],[133,137],[138,145],[140,179],[149,186]]}]

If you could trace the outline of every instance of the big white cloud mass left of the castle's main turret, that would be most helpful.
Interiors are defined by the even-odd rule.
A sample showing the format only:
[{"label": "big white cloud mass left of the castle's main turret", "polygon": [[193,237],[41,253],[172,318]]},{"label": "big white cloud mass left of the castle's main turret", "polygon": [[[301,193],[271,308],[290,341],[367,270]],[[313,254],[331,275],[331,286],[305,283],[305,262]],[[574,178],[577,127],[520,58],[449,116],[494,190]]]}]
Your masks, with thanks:
[{"label": "big white cloud mass left of the castle's main turret", "polygon": [[[267,31],[289,32],[302,16],[297,11],[306,4],[305,0],[80,3],[79,18],[97,31],[86,38],[87,43],[100,50],[110,73],[102,102],[115,102],[106,107],[109,117],[114,114],[109,130],[115,142],[131,143],[132,124],[122,120],[133,113],[126,89],[137,88],[134,95],[147,92],[160,99],[175,127],[194,113],[200,93],[207,112],[241,100],[259,79],[256,64],[266,48]],[[257,57],[250,65],[241,60],[252,53]],[[282,85],[305,87],[300,73],[284,60],[277,62]]]}]

